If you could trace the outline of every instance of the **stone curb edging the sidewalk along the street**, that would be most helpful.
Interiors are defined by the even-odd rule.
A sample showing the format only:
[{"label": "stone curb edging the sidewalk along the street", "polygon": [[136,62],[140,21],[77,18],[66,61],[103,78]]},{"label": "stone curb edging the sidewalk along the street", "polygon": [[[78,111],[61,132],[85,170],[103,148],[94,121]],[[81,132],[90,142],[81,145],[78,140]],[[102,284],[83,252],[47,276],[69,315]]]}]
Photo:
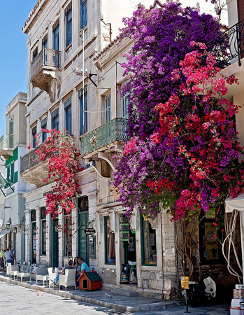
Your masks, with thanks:
[{"label": "stone curb edging the sidewalk along the street", "polygon": [[113,311],[120,311],[123,313],[137,313],[138,311],[155,311],[159,309],[166,309],[168,307],[178,307],[185,305],[185,301],[172,301],[172,302],[157,302],[152,304],[143,304],[140,306],[126,306],[122,304],[116,304],[113,302],[106,302],[103,300],[96,300],[92,297],[85,297],[82,295],[76,295],[73,293],[69,293],[66,291],[53,290],[52,288],[45,288],[43,286],[38,286],[36,284],[29,284],[26,282],[16,281],[13,279],[9,279],[5,276],[0,276],[0,281],[13,284],[15,286],[22,286],[24,288],[31,288],[34,290],[40,290],[45,293],[50,293],[53,295],[58,295],[61,297],[66,297],[72,300],[77,300],[80,302],[85,302],[89,304],[99,305],[100,307],[106,307],[108,309],[113,309]]}]

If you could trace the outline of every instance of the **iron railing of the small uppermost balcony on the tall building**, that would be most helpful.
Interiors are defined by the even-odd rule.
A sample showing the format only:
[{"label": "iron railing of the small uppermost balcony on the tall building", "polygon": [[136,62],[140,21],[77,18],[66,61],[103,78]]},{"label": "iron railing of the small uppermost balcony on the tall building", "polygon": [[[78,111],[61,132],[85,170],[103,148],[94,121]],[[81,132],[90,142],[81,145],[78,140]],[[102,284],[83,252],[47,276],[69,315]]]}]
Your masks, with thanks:
[{"label": "iron railing of the small uppermost balcony on the tall building", "polygon": [[36,76],[40,69],[46,66],[48,69],[59,69],[60,51],[43,48],[31,63],[31,80]]}]

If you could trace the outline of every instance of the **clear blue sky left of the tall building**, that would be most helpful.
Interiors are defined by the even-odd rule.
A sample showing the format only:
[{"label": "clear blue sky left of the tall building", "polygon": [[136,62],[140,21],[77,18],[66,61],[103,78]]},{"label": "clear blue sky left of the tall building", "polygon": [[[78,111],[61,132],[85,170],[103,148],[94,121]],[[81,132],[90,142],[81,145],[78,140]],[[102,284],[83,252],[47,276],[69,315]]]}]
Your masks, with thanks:
[{"label": "clear blue sky left of the tall building", "polygon": [[0,137],[6,133],[6,106],[18,92],[27,92],[27,35],[22,26],[36,2],[0,1]]}]

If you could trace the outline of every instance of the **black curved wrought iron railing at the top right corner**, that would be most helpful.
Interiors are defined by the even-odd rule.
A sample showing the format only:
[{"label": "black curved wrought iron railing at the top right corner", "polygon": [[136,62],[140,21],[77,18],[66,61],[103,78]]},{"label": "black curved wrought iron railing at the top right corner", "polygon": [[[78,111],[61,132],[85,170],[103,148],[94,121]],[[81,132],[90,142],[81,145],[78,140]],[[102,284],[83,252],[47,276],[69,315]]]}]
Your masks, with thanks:
[{"label": "black curved wrought iron railing at the top right corner", "polygon": [[206,45],[215,53],[218,61],[224,62],[225,66],[236,57],[241,66],[241,58],[244,57],[244,19],[213,38]]}]

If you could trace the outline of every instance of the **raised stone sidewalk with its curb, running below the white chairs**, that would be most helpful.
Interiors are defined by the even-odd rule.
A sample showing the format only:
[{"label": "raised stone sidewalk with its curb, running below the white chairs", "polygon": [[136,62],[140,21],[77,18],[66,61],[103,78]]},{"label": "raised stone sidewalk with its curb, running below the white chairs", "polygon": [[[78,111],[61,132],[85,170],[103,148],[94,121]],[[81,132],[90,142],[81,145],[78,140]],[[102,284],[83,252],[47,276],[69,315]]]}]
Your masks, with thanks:
[{"label": "raised stone sidewalk with its curb, running below the white chairs", "polygon": [[23,286],[33,290],[40,290],[46,293],[59,295],[81,302],[96,304],[101,307],[113,309],[113,311],[120,311],[122,313],[137,313],[140,311],[150,312],[167,309],[168,307],[178,307],[185,304],[184,300],[163,301],[143,296],[124,296],[115,294],[113,292],[111,293],[108,290],[95,290],[92,292],[88,290],[58,290],[58,288],[52,288],[52,286],[49,288],[48,286],[36,285],[35,281],[21,282],[10,279],[6,277],[5,272],[0,272],[0,281],[5,281],[6,283],[11,283],[16,286]]}]

